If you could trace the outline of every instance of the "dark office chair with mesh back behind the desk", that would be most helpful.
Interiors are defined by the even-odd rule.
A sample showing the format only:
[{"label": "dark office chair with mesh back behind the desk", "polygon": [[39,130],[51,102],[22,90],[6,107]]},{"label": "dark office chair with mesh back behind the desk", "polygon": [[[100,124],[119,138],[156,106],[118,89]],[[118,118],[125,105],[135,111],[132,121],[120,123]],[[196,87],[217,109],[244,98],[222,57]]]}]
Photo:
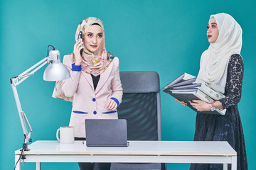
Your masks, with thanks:
[{"label": "dark office chair with mesh back behind the desk", "polygon": [[[118,118],[127,120],[128,140],[161,140],[159,74],[156,72],[120,72],[123,88]],[[112,163],[112,170],[166,169],[166,164]]]}]

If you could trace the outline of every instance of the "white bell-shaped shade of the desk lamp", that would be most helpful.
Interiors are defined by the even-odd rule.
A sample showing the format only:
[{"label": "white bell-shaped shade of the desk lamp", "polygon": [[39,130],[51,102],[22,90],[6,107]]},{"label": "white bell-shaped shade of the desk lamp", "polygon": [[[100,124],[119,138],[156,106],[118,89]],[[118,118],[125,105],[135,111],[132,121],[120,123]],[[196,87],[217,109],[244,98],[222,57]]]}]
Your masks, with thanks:
[{"label": "white bell-shaped shade of the desk lamp", "polygon": [[60,52],[58,50],[50,51],[48,61],[49,65],[43,73],[43,80],[59,81],[70,77],[68,68],[60,62]]}]

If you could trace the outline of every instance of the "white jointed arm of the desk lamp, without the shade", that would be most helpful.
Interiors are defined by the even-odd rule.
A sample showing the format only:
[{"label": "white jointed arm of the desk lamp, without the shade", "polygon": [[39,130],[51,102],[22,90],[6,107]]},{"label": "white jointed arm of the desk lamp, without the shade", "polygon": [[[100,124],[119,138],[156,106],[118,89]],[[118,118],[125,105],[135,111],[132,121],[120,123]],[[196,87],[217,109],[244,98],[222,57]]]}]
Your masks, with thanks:
[{"label": "white jointed arm of the desk lamp, without the shade", "polygon": [[[18,84],[21,84],[22,81],[24,81],[25,79],[27,79],[28,77],[33,75],[35,72],[38,71],[38,69],[41,69],[41,67],[43,67],[47,63],[48,63],[48,57],[45,57],[43,60],[34,64],[32,67],[27,69],[25,72],[19,74],[17,77],[12,77],[10,79],[11,80],[11,87],[12,87],[12,90],[14,92],[14,98],[15,98],[15,101],[16,101],[16,106],[18,108],[18,115],[19,115],[19,118],[21,120],[23,135],[24,135],[24,143],[23,143],[23,149],[24,150],[28,150],[27,143],[31,142],[30,137],[31,137],[32,128],[31,128],[31,125],[28,122],[28,119],[26,118],[26,114],[22,111],[21,102],[19,101],[19,98],[18,98],[18,92],[17,92],[16,86],[18,86]],[[28,125],[29,130],[30,130],[29,132],[26,128],[25,120],[26,120],[26,123]]]}]

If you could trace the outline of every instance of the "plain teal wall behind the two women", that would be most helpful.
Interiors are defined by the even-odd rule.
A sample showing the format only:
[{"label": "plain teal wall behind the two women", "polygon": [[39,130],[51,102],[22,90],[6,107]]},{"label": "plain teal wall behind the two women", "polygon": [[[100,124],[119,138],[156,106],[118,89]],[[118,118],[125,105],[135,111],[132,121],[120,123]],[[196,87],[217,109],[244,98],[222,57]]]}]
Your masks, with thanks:
[{"label": "plain teal wall behind the two women", "polygon": [[[209,45],[208,18],[220,12],[230,13],[243,30],[245,76],[239,109],[249,169],[256,169],[255,6],[254,0],[1,0],[0,169],[14,169],[14,151],[23,143],[9,79],[46,57],[47,45],[60,50],[62,59],[73,52],[75,30],[83,18],[95,16],[102,20],[107,50],[119,57],[120,71],[158,72],[163,87],[183,72],[197,75],[201,53]],[[43,70],[17,87],[21,106],[33,128],[33,141],[55,140],[55,131],[68,125],[70,118],[71,103],[51,97],[55,83],[43,81]],[[163,92],[161,113],[163,140],[193,140],[196,113]],[[35,166],[28,163],[22,169]],[[189,164],[168,164],[168,169],[188,167]],[[44,163],[42,168],[78,169],[78,165]]]}]

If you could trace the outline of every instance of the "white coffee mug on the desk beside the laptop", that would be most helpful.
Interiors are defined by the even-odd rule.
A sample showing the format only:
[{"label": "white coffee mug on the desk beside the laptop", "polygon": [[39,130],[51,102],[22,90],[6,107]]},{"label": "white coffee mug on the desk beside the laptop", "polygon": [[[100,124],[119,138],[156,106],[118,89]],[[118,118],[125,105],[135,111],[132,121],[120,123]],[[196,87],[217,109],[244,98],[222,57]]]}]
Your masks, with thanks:
[{"label": "white coffee mug on the desk beside the laptop", "polygon": [[[60,138],[58,137],[59,132],[60,132]],[[74,127],[63,126],[58,128],[56,132],[56,137],[61,144],[73,144],[74,143]]]}]

